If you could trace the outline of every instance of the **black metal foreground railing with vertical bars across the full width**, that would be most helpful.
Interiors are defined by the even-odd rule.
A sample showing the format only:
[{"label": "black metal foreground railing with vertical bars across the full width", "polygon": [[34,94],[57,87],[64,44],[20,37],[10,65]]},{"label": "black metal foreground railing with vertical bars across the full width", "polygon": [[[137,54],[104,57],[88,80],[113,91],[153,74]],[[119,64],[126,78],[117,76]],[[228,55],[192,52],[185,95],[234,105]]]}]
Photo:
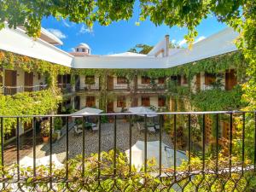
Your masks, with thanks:
[{"label": "black metal foreground railing with vertical bars across the full width", "polygon": [[[124,115],[126,123],[118,118]],[[42,159],[36,158],[36,121],[49,119],[53,130],[56,117],[66,122],[80,119],[81,125],[75,128],[67,123],[63,128],[66,135],[55,144],[54,132],[49,131],[48,147],[44,147],[49,148],[49,156],[44,158],[48,163],[43,168]],[[212,119],[210,131],[209,117]],[[32,121],[32,162],[27,162],[28,168],[21,160],[24,146],[20,142],[19,122],[24,118]],[[97,119],[98,123],[96,129],[88,131],[90,118]],[[16,147],[11,150],[15,158],[5,155],[8,146],[4,143],[4,131],[9,119],[15,120],[16,125]],[[106,123],[106,119],[112,120]],[[229,124],[226,135],[223,135],[221,121]],[[14,191],[253,191],[254,111],[0,116],[0,128],[1,191],[9,188]],[[211,142],[207,143],[207,137],[212,138]],[[225,140],[225,144],[221,140]],[[78,148],[78,156],[74,157],[74,150]],[[65,154],[61,166],[55,163],[53,154]]]}]

